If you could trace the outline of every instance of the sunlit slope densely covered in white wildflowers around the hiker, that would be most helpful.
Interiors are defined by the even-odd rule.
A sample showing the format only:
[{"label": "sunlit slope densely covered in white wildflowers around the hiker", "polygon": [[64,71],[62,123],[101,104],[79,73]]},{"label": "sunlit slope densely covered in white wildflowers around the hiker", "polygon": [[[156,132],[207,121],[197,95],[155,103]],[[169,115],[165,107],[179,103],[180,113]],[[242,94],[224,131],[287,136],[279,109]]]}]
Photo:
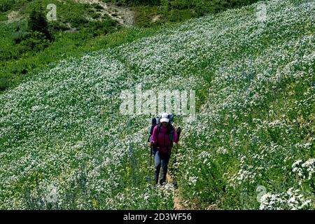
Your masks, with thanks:
[{"label": "sunlit slope densely covered in white wildflowers around the hiker", "polygon": [[139,84],[196,90],[195,122],[175,120],[184,206],[314,209],[315,4],[266,1],[263,21],[260,6],[66,59],[6,90],[0,209],[172,209],[172,189],[146,181],[151,116],[120,114],[120,93]]}]

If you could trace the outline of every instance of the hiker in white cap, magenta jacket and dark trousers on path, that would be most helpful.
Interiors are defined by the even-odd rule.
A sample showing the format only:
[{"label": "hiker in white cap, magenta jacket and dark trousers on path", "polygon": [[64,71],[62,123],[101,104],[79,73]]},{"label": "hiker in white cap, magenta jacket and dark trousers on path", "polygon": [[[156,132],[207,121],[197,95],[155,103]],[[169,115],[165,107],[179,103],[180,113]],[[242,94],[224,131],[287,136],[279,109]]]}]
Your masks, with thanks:
[{"label": "hiker in white cap, magenta jacket and dark trousers on path", "polygon": [[160,169],[162,166],[162,178],[160,184],[162,185],[166,181],[167,166],[169,164],[169,158],[171,157],[171,150],[173,143],[179,142],[179,135],[176,133],[175,128],[169,122],[169,114],[162,113],[160,123],[153,129],[151,137],[151,146],[155,147],[156,153],[154,157],[155,161],[155,183],[158,184],[158,178]]}]

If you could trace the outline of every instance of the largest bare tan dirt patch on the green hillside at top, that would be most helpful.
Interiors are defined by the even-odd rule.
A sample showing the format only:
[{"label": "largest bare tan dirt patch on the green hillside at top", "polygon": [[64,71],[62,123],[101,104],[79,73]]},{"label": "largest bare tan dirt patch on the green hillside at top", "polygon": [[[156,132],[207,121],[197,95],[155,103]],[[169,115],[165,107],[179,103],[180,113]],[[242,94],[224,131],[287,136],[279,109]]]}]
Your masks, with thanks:
[{"label": "largest bare tan dirt patch on the green hillside at top", "polygon": [[116,20],[125,27],[134,26],[136,13],[130,8],[123,6],[116,6],[113,3],[105,3],[101,0],[76,0],[78,3],[97,3],[102,6],[102,15],[105,13],[109,15],[113,20]]}]

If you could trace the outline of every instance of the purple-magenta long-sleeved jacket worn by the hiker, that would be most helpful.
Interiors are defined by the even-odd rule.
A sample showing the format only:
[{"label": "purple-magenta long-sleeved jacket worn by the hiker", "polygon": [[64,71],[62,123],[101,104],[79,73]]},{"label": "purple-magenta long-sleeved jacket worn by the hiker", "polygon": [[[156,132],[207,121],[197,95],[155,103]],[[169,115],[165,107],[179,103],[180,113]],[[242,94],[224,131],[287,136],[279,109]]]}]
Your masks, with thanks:
[{"label": "purple-magenta long-sleeved jacket worn by the hiker", "polygon": [[[173,141],[175,143],[178,143],[179,137],[173,126],[172,128],[174,130]],[[157,151],[162,151],[163,153],[166,153],[167,151],[169,151],[169,149],[171,148],[171,141],[169,139],[169,134],[167,133],[167,127],[163,127],[161,125],[160,132],[158,133],[158,125],[155,126],[153,129],[151,142],[153,142],[153,144],[157,146]]]}]

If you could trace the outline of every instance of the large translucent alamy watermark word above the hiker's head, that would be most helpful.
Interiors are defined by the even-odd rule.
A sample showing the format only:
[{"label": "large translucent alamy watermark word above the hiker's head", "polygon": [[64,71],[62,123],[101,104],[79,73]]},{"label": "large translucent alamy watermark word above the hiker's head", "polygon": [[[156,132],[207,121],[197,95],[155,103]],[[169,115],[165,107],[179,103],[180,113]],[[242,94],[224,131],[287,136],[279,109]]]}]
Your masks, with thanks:
[{"label": "large translucent alamy watermark word above the hiker's head", "polygon": [[[196,118],[195,90],[153,90],[142,91],[137,85],[135,91],[123,90],[120,93],[120,113],[123,115],[156,115],[163,112],[183,116],[184,123]],[[188,108],[189,102],[189,108]]]}]

